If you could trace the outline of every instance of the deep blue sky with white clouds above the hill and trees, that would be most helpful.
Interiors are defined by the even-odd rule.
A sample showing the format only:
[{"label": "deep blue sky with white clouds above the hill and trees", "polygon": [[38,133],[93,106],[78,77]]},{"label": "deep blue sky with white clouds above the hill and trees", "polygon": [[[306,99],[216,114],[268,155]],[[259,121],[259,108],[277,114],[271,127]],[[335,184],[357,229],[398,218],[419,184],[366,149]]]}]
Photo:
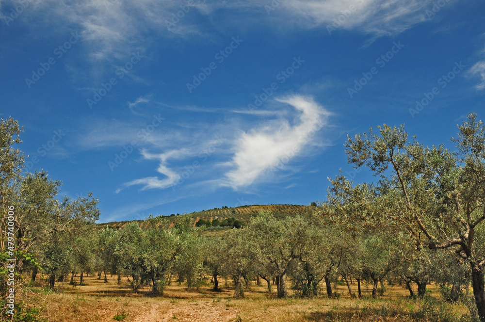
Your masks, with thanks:
[{"label": "deep blue sky with white clouds above the hill and trees", "polygon": [[485,2],[0,0],[3,118],[101,222],[324,200],[343,143],[485,118]]}]

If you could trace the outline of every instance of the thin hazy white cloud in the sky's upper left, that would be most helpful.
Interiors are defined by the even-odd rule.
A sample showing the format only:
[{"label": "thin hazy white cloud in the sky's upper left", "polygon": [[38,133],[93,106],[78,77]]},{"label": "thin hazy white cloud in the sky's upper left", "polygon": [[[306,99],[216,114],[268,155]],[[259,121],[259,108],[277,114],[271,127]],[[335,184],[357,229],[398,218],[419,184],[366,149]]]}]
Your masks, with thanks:
[{"label": "thin hazy white cloud in the sky's upper left", "polygon": [[[34,30],[44,27],[66,32],[68,26],[80,33],[91,60],[113,62],[123,61],[133,50],[143,53],[146,43],[151,42],[149,38],[157,33],[173,37],[175,33],[167,29],[166,21],[171,19],[172,13],[177,14],[182,4],[187,1],[43,0],[31,2],[20,19]],[[198,8],[201,4],[195,1],[190,10],[195,12]],[[178,36],[198,33],[191,24],[191,17],[181,19],[176,25]]]}]

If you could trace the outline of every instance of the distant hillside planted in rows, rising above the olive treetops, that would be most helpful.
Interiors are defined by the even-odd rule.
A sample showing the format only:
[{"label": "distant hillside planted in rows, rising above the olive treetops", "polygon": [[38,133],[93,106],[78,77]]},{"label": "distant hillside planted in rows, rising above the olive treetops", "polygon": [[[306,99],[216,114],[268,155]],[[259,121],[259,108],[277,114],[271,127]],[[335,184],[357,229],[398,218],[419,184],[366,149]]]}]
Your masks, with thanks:
[{"label": "distant hillside planted in rows, rising above the olive treetops", "polygon": [[[194,218],[194,225],[199,220],[205,220],[212,222],[214,219],[219,221],[223,221],[227,218],[235,218],[242,222],[243,224],[247,224],[251,218],[256,217],[261,210],[268,210],[276,218],[285,218],[286,216],[294,216],[298,213],[302,213],[305,210],[306,206],[302,205],[248,205],[248,206],[239,206],[236,208],[214,208],[209,210],[202,210],[191,212],[188,215]],[[174,219],[177,217],[176,214],[163,216],[170,220],[171,225]],[[121,221],[121,222],[110,222],[110,223],[103,223],[99,224],[101,226],[110,226],[113,229],[120,229],[125,226],[130,221]],[[137,220],[141,228],[146,228],[146,221],[145,220]]]}]

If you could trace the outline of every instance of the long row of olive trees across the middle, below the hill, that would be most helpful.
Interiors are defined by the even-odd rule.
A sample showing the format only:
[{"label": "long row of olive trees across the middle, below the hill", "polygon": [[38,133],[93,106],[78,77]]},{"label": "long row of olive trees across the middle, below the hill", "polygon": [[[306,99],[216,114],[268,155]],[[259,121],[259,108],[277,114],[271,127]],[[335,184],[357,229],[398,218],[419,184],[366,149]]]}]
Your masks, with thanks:
[{"label": "long row of olive trees across the middle, below the hill", "polygon": [[[347,224],[339,222],[342,219]],[[90,271],[104,272],[105,281],[107,273],[117,274],[118,281],[126,276],[135,292],[140,285],[150,284],[153,295],[161,294],[172,277],[192,288],[206,273],[215,291],[219,290],[218,278],[232,279],[234,297],[243,297],[255,278],[265,280],[269,292],[275,283],[278,297],[288,295],[287,279],[302,296],[318,295],[324,284],[329,297],[333,296],[332,283],[339,278],[355,297],[362,296],[362,280],[371,282],[374,298],[378,283],[382,285],[385,279],[400,280],[411,296],[411,282],[418,286],[419,296],[424,296],[432,280],[457,287],[457,293],[466,284],[452,273],[463,270],[459,262],[440,257],[436,251],[416,251],[404,237],[394,238],[391,227],[353,226],[330,203],[309,206],[304,214],[282,220],[261,212],[243,229],[230,229],[218,237],[203,237],[204,228],[193,227],[188,216],[178,216],[170,229],[161,217],[148,221],[146,229],[133,222],[120,230],[100,230],[92,243],[96,264]],[[433,265],[450,270],[432,270]],[[354,280],[357,294],[350,286]]]}]

